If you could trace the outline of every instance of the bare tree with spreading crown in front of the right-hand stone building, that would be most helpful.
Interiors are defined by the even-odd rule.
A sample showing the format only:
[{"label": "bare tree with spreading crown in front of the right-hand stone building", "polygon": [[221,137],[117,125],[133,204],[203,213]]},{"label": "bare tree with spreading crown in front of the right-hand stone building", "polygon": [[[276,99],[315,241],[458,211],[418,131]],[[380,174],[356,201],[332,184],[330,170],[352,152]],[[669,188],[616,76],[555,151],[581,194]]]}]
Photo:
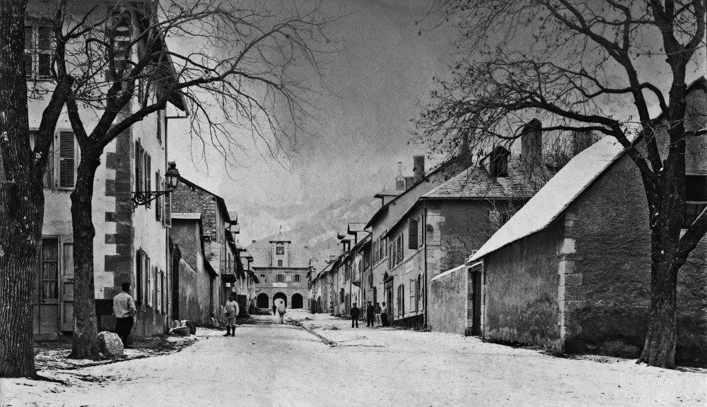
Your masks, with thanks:
[{"label": "bare tree with spreading crown in front of the right-hand stone building", "polygon": [[[549,124],[543,131],[594,131],[626,148],[643,180],[652,237],[640,360],[662,367],[674,366],[677,273],[707,231],[703,211],[681,235],[686,141],[704,134],[686,131],[686,81],[704,67],[705,9],[701,0],[440,0],[432,15],[458,24],[464,58],[418,121],[436,146],[469,134],[475,146],[514,139],[537,117]],[[651,121],[652,105],[667,126]]]}]

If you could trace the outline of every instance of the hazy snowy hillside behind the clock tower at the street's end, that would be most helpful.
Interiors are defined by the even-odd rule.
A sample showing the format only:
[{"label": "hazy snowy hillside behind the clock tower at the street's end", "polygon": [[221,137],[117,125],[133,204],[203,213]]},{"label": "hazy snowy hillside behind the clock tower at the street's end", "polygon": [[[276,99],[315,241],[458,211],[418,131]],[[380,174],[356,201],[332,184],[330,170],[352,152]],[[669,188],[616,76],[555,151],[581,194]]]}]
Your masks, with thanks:
[{"label": "hazy snowy hillside behind the clock tower at the street's end", "polygon": [[329,255],[341,252],[341,247],[337,245],[337,232],[345,232],[349,222],[368,222],[379,207],[380,201],[370,197],[354,201],[339,199],[316,213],[291,218],[282,235],[276,233],[264,237],[248,245],[247,249],[253,255],[254,265],[257,266],[269,262],[267,247],[270,240],[291,240],[293,247],[299,247],[297,258],[305,261],[306,257],[308,261],[313,256],[318,260],[318,263],[314,263],[315,267],[320,269],[324,266],[324,261],[329,259]]}]

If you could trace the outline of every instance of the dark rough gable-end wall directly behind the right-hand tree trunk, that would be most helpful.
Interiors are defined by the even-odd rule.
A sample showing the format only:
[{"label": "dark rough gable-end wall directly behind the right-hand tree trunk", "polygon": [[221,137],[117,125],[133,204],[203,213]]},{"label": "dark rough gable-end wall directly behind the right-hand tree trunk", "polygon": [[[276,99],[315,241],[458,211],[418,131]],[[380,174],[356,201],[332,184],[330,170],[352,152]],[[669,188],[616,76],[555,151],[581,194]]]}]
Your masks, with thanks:
[{"label": "dark rough gable-end wall directly behind the right-hand tree trunk", "polygon": [[[636,356],[643,348],[650,309],[648,206],[638,170],[622,158],[571,208],[578,290],[568,350]],[[678,360],[707,361],[707,238],[678,276]],[[566,293],[568,295],[569,292]],[[568,309],[569,311],[570,309]]]}]

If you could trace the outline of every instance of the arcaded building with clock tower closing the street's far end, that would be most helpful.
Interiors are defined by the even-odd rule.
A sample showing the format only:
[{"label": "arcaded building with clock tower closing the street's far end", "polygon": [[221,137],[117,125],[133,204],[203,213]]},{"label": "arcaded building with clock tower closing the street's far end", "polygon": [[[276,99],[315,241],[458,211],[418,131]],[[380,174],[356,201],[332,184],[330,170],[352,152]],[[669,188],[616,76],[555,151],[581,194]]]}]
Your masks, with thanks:
[{"label": "arcaded building with clock tower closing the street's far end", "polygon": [[307,273],[314,258],[308,248],[293,246],[279,235],[275,240],[254,240],[247,251],[253,256],[251,269],[257,278],[257,308],[269,309],[277,298],[285,300],[288,308],[305,307]]}]

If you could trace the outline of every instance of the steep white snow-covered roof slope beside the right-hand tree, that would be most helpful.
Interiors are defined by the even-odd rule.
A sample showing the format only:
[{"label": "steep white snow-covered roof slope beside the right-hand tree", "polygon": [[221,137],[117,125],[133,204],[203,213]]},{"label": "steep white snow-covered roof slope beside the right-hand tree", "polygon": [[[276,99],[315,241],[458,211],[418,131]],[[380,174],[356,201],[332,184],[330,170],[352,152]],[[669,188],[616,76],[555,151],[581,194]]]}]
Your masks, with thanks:
[{"label": "steep white snow-covered roof slope beside the right-hand tree", "polygon": [[616,138],[606,136],[575,155],[469,260],[481,259],[486,254],[547,228],[623,152],[624,148]]}]

